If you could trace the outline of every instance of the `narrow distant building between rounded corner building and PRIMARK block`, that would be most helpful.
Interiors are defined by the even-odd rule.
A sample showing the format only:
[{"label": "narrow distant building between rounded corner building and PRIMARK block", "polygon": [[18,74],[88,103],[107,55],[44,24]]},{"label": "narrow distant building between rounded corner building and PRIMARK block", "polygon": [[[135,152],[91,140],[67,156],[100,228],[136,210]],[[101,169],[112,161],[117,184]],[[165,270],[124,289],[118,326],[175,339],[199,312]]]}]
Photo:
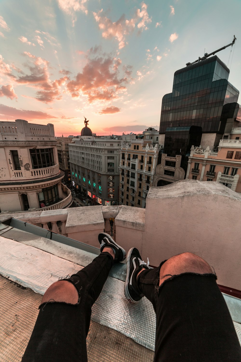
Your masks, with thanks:
[{"label": "narrow distant building between rounded corner building and PRIMARK block", "polygon": [[59,168],[64,171],[64,180],[71,181],[70,164],[69,164],[69,143],[72,141],[73,136],[69,137],[55,137],[57,140],[57,152]]}]

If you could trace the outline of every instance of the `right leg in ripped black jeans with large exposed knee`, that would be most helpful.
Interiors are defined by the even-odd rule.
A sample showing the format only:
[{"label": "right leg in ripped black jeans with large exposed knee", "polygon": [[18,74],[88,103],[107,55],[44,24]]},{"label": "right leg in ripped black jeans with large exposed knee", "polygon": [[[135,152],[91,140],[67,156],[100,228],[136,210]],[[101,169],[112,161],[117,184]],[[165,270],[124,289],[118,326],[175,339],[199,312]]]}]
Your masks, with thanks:
[{"label": "right leg in ripped black jeans with large exposed knee", "polygon": [[[137,257],[134,254],[127,259],[133,260]],[[135,299],[138,293],[145,295],[154,306],[154,361],[241,361],[230,313],[206,261],[182,253],[162,262],[159,268],[144,268],[138,265],[133,270],[132,288],[126,283]]]}]

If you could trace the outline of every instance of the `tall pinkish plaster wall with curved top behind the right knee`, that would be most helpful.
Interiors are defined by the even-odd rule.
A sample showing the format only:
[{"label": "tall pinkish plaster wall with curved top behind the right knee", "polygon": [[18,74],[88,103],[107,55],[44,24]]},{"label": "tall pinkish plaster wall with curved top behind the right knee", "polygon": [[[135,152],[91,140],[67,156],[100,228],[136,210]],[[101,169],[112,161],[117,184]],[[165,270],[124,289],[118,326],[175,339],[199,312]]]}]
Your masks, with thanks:
[{"label": "tall pinkish plaster wall with curved top behind the right knee", "polygon": [[240,290],[240,213],[241,195],[216,182],[151,187],[142,254],[152,265],[182,252],[197,254],[213,266],[219,284]]}]

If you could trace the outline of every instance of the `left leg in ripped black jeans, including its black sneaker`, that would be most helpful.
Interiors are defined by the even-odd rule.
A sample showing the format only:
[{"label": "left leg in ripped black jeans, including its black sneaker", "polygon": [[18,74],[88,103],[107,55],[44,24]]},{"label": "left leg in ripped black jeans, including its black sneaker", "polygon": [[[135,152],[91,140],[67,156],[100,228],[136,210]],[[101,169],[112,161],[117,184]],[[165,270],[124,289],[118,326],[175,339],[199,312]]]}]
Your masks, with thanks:
[{"label": "left leg in ripped black jeans, including its black sneaker", "polygon": [[99,235],[100,255],[69,279],[53,283],[43,296],[22,362],[87,361],[86,336],[91,307],[113,262],[125,251],[107,234]]}]

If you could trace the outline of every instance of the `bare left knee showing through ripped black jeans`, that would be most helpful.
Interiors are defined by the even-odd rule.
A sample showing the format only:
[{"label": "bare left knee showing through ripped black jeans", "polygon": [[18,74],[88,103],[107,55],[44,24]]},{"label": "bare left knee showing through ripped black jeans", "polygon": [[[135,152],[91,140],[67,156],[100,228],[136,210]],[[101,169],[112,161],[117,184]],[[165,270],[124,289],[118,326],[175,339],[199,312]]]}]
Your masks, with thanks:
[{"label": "bare left knee showing through ripped black jeans", "polygon": [[42,303],[65,302],[76,304],[78,302],[78,292],[76,287],[66,280],[53,283],[44,293]]}]

